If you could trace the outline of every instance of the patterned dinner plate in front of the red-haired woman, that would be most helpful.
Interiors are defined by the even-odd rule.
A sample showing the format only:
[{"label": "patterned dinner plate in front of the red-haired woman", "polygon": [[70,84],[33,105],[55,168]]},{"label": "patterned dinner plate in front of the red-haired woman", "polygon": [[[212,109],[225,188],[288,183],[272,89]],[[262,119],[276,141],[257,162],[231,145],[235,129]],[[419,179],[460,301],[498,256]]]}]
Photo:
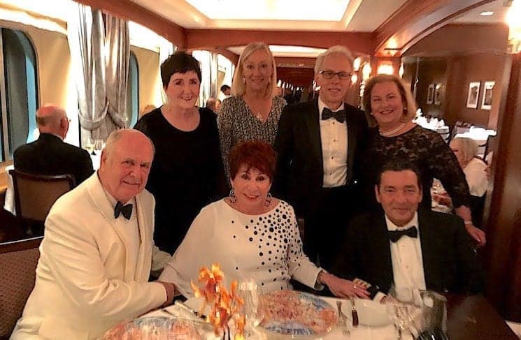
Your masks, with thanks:
[{"label": "patterned dinner plate in front of the red-haired woman", "polygon": [[338,314],[320,297],[294,290],[279,290],[261,295],[260,311],[264,318],[259,328],[273,337],[315,338],[330,332]]}]

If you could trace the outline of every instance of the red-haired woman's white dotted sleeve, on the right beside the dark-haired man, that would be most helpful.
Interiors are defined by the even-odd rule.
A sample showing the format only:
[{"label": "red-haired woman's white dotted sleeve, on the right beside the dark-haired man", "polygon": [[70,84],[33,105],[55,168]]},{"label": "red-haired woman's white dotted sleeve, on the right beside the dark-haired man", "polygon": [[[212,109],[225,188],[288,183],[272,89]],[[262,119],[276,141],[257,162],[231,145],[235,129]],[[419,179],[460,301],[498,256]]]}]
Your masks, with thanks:
[{"label": "red-haired woman's white dotted sleeve, on the right beside the dark-haired man", "polygon": [[287,263],[289,274],[293,279],[304,283],[306,286],[314,289],[322,289],[323,286],[317,284],[317,276],[321,270],[309,260],[308,256],[302,251],[302,241],[300,239],[299,227],[297,226],[297,218],[293,208],[291,208],[292,226],[290,227],[290,244],[287,247]]}]

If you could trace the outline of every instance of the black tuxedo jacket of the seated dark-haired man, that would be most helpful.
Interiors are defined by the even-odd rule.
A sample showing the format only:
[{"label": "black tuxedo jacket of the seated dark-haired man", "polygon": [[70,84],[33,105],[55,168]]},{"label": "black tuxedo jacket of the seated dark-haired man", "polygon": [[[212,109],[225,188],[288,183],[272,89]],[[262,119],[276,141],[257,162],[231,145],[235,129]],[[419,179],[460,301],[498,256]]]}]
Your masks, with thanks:
[{"label": "black tuxedo jacket of the seated dark-haired man", "polygon": [[[483,290],[483,273],[462,219],[420,209],[418,224],[427,289],[441,293]],[[363,279],[383,293],[389,291],[393,272],[383,209],[352,219],[331,272]]]}]

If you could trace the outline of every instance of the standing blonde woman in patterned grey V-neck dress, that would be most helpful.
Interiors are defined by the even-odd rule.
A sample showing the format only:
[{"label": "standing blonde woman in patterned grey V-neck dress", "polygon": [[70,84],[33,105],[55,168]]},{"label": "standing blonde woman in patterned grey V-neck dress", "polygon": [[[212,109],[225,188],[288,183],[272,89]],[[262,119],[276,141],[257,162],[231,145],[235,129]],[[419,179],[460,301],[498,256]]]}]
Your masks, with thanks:
[{"label": "standing blonde woman in patterned grey V-neck dress", "polygon": [[231,96],[222,102],[217,126],[224,168],[229,177],[228,155],[241,140],[264,140],[273,146],[278,119],[285,106],[276,96],[275,59],[264,43],[248,44],[231,83]]}]

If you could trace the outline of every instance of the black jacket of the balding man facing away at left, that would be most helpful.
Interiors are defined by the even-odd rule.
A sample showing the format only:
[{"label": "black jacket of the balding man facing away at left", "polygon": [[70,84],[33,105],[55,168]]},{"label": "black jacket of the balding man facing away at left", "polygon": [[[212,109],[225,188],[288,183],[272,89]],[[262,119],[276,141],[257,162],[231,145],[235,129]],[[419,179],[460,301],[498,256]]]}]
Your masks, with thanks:
[{"label": "black jacket of the balding man facing away at left", "polygon": [[73,175],[76,185],[92,175],[92,160],[84,149],[70,145],[50,133],[22,145],[13,155],[15,169],[37,175]]}]

